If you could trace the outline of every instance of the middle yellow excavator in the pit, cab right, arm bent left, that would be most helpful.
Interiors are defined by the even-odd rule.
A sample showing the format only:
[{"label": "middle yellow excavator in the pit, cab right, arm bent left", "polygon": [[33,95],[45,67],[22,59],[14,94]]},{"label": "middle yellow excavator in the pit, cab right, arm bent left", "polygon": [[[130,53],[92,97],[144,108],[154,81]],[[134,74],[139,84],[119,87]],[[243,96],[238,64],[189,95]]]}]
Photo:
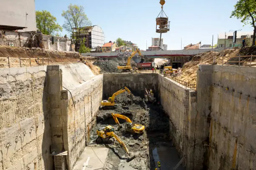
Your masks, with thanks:
[{"label": "middle yellow excavator in the pit, cab right, arm bent left", "polygon": [[127,130],[129,132],[133,132],[133,133],[143,133],[143,131],[145,129],[144,125],[133,124],[131,119],[129,119],[129,117],[126,117],[125,115],[120,115],[120,114],[115,114],[115,113],[111,113],[111,114],[112,114],[116,124],[118,124],[120,127],[121,127],[121,125],[118,121],[118,118],[126,120],[125,130]]}]

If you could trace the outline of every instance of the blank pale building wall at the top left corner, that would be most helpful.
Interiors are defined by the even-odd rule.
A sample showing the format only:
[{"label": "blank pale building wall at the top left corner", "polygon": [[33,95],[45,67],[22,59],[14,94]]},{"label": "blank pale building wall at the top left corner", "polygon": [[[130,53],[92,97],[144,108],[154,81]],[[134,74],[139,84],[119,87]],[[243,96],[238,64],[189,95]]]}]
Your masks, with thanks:
[{"label": "blank pale building wall at the top left corner", "polygon": [[0,30],[36,31],[35,0],[1,0]]}]

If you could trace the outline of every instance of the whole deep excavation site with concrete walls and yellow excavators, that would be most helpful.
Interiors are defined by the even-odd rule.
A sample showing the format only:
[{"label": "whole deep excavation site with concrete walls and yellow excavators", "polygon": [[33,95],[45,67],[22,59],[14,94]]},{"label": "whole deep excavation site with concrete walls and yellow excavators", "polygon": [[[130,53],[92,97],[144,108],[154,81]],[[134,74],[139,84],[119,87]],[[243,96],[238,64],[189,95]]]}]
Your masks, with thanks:
[{"label": "whole deep excavation site with concrete walls and yellow excavators", "polygon": [[230,169],[256,170],[256,46],[0,45],[0,170]]}]

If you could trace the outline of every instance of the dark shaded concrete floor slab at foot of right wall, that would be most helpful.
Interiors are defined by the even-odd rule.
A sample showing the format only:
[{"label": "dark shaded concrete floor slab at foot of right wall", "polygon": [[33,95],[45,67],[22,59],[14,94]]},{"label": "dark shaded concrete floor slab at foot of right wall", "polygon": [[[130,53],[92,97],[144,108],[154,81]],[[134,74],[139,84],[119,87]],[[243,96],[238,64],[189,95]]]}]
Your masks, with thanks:
[{"label": "dark shaded concrete floor slab at foot of right wall", "polygon": [[[160,161],[161,170],[172,170],[180,161],[177,150],[174,147],[168,148],[161,146],[152,148],[152,150],[156,168],[157,162]],[[185,168],[180,165],[177,170],[185,170]]]}]

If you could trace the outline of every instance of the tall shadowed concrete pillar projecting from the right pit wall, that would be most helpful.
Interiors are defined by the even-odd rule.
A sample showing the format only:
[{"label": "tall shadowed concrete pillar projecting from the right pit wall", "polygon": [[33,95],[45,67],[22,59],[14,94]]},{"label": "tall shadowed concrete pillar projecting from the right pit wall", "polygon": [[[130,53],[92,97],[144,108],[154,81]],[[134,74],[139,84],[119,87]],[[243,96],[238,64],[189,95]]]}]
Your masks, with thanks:
[{"label": "tall shadowed concrete pillar projecting from the right pit wall", "polygon": [[[194,167],[202,169],[207,164],[204,154],[209,153],[209,133],[212,113],[212,69],[213,65],[200,65],[197,71],[197,146],[195,147]],[[207,155],[208,156],[208,155]]]}]

